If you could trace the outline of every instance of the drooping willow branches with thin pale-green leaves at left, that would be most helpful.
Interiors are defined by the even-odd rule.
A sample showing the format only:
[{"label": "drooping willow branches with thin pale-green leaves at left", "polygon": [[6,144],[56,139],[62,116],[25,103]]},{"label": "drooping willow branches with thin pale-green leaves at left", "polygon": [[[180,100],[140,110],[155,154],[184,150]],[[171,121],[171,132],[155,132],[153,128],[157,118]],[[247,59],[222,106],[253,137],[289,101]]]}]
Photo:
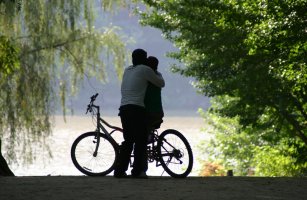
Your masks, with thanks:
[{"label": "drooping willow branches with thin pale-green leaves at left", "polygon": [[111,63],[121,76],[127,52],[120,29],[107,17],[95,28],[95,14],[125,1],[95,2],[0,1],[0,137],[11,159],[17,146],[30,160],[29,144],[45,146],[55,106],[60,101],[65,114],[84,77],[106,81]]}]

